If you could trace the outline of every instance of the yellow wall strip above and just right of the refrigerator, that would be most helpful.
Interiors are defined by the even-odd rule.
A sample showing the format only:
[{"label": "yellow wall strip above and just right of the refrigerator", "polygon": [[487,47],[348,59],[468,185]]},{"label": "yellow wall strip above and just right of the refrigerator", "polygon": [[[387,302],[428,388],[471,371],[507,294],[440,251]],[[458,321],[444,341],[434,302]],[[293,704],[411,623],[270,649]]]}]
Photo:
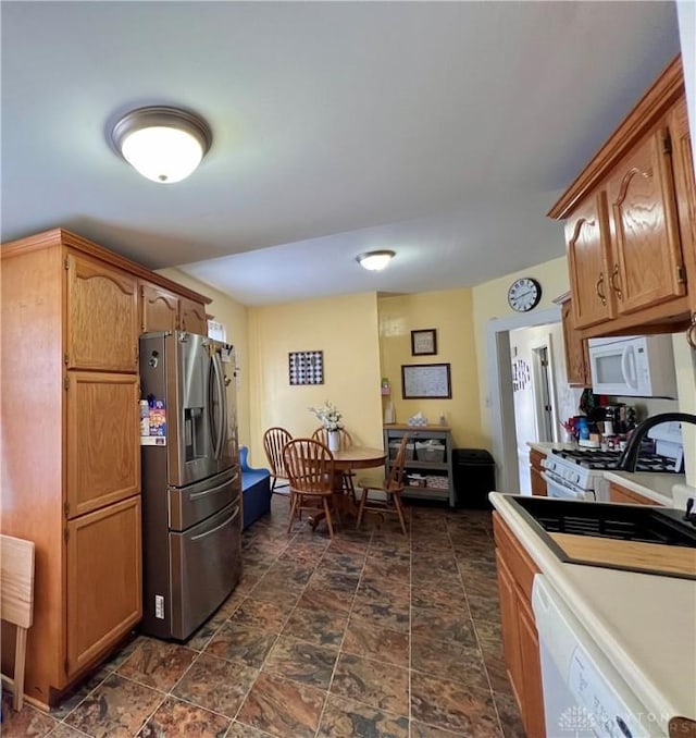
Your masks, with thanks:
[{"label": "yellow wall strip above and just right of the refrigerator", "polygon": [[249,445],[249,352],[247,348],[247,308],[235,302],[229,295],[199,282],[198,280],[178,271],[178,269],[160,269],[159,274],[172,282],[178,282],[189,290],[212,298],[206,308],[209,315],[222,323],[227,331],[227,343],[235,347],[237,367],[237,428],[239,443]]}]

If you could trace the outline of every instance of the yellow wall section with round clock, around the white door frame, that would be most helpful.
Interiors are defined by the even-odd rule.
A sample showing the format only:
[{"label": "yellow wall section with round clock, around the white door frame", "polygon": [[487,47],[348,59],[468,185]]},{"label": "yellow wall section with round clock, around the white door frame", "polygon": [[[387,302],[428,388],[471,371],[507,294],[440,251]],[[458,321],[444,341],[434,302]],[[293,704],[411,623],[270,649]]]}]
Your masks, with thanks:
[{"label": "yellow wall section with round clock, around the white door frame", "polygon": [[478,367],[481,432],[485,439],[484,445],[487,448],[490,448],[493,429],[490,427],[490,413],[487,407],[490,382],[487,366],[486,328],[494,318],[510,318],[519,315],[508,305],[508,287],[519,276],[533,276],[540,283],[542,300],[536,309],[550,307],[555,297],[568,292],[570,284],[566,257],[560,257],[473,287],[473,324],[475,327],[475,352]]}]

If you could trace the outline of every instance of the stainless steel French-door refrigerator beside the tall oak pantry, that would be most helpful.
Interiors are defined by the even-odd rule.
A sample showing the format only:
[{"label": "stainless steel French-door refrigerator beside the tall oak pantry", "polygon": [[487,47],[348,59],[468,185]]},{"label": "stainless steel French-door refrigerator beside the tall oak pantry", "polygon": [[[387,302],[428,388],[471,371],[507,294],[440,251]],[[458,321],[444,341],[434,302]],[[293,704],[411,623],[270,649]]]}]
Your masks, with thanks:
[{"label": "stainless steel French-door refrigerator beside the tall oak pantry", "polygon": [[241,574],[234,349],[183,331],[140,336],[142,624],[185,640]]}]

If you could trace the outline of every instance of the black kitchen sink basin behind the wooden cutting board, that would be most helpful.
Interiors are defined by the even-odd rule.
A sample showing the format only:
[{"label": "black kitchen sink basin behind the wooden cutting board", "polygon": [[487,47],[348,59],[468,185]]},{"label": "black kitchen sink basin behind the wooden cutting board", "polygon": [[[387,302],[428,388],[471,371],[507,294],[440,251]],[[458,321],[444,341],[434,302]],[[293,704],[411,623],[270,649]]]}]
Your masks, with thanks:
[{"label": "black kitchen sink basin behind the wooden cutting board", "polygon": [[678,509],[548,497],[512,497],[523,516],[547,533],[696,549],[696,527]]}]

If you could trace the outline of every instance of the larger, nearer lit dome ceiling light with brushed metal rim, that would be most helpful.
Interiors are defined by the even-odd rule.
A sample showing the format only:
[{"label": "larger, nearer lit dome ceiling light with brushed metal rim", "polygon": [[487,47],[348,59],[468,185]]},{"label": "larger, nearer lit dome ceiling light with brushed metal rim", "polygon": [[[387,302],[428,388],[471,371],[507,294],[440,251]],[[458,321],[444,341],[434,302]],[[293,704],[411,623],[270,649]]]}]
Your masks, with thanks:
[{"label": "larger, nearer lit dome ceiling light with brushed metal rim", "polygon": [[116,150],[142,176],[171,184],[198,167],[213,139],[202,118],[179,108],[138,108],[114,126]]}]

